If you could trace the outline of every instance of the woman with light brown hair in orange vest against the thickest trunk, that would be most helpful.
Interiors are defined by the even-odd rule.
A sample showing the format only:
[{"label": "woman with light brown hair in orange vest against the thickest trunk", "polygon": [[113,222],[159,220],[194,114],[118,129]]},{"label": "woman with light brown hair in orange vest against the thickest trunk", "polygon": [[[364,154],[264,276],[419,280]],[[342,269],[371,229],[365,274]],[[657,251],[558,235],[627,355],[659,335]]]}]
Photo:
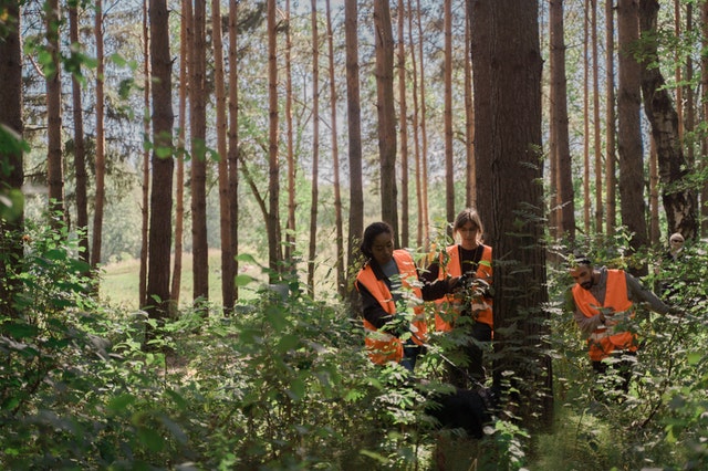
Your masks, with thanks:
[{"label": "woman with light brown hair in orange vest against the thickest trunk", "polygon": [[462,276],[465,289],[438,300],[435,328],[450,332],[465,329],[467,342],[455,356],[460,358],[448,376],[450,384],[468,387],[468,380],[485,379],[483,345],[492,339],[492,250],[482,243],[479,213],[473,208],[460,211],[452,223],[452,236],[459,243],[448,245],[439,260],[434,260],[423,275],[426,280]]}]

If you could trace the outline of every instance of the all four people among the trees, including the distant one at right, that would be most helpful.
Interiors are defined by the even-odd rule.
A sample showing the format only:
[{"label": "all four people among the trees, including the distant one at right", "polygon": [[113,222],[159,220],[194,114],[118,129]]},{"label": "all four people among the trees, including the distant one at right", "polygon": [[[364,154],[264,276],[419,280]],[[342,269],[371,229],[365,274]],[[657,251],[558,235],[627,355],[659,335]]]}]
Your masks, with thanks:
[{"label": "all four people among the trees, including the distant one at right", "polygon": [[[355,285],[372,362],[396,362],[413,371],[428,342],[424,302],[435,301],[435,329],[461,331],[466,338],[461,360],[449,365],[450,383],[464,387],[468,380],[485,379],[483,349],[493,336],[492,249],[483,243],[482,223],[472,208],[457,216],[452,236],[455,243],[419,268],[407,250],[394,248],[388,223],[372,223],[364,231],[361,250],[366,260]],[[669,240],[667,257],[675,258],[684,238],[675,233]],[[639,303],[659,314],[677,310],[631,273],[595,266],[585,255],[571,257],[569,272],[574,284],[568,307],[586,338],[592,367],[601,375],[608,367],[616,369],[626,393],[639,345],[627,320]]]}]

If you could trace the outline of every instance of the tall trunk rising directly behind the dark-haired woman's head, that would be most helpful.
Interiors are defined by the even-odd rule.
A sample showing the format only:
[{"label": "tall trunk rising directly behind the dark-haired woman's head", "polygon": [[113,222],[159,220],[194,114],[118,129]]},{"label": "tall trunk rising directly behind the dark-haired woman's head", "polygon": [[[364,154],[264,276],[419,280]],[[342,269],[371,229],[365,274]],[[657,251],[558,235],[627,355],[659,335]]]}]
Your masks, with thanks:
[{"label": "tall trunk rising directly behind the dark-haired woman's head", "polygon": [[394,230],[399,247],[398,190],[396,188],[396,116],[394,106],[394,38],[388,0],[374,0],[376,29],[376,111],[381,159],[381,216]]}]

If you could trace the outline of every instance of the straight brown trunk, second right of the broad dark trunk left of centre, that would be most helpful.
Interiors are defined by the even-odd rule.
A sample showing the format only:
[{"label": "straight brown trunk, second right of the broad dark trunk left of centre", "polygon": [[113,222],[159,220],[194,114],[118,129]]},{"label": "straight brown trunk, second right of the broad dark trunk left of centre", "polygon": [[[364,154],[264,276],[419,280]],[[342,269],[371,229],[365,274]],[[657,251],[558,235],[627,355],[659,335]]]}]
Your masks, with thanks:
[{"label": "straight brown trunk, second right of the broad dark trunk left of centre", "polygon": [[192,299],[209,299],[209,247],[207,242],[207,90],[206,90],[206,1],[196,0],[192,17],[191,83],[189,87],[191,128],[191,243]]}]

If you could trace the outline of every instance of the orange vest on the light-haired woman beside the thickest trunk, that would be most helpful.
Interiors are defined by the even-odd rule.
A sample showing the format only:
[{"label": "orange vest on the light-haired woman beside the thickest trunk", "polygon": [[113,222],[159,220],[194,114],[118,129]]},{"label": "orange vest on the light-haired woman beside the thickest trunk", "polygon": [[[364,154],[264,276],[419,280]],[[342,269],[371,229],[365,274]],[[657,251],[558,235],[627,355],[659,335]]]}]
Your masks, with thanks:
[{"label": "orange vest on the light-haired woman beside the thickest trunk", "polygon": [[[482,245],[482,257],[477,265],[477,278],[491,283],[492,268],[491,268],[491,247]],[[440,270],[438,278],[444,280],[446,276],[460,276],[462,274],[462,263],[460,262],[459,247],[449,245],[447,249],[448,261],[447,265],[440,263]],[[493,328],[493,311],[491,297],[477,296],[472,299],[472,307],[477,322],[485,323]],[[452,329],[452,324],[457,316],[459,316],[459,301],[455,295],[447,295],[439,300],[436,300],[438,310],[435,314],[435,329],[439,332],[449,332]]]}]

